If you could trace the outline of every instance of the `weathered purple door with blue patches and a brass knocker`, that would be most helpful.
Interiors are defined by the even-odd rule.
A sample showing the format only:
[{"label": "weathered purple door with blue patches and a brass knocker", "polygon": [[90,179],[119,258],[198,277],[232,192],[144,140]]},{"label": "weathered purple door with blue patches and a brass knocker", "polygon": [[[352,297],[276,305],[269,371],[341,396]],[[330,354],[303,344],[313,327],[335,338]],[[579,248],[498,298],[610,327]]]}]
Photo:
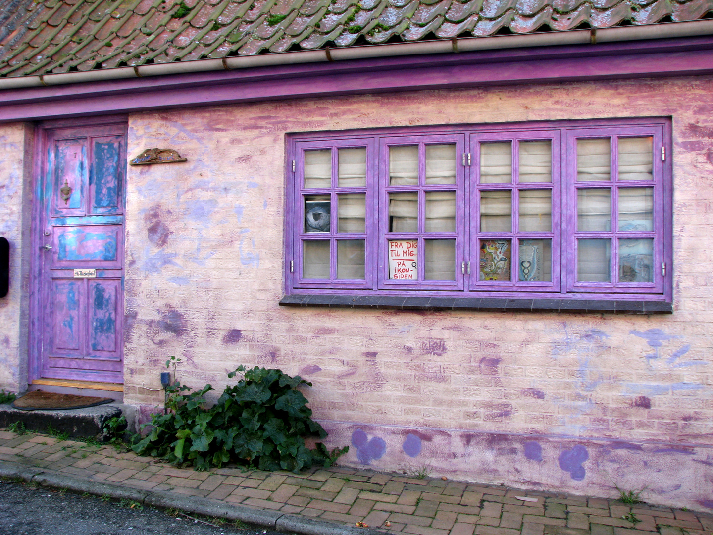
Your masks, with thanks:
[{"label": "weathered purple door with blue patches and a brass knocker", "polygon": [[46,131],[34,378],[123,383],[125,125]]}]

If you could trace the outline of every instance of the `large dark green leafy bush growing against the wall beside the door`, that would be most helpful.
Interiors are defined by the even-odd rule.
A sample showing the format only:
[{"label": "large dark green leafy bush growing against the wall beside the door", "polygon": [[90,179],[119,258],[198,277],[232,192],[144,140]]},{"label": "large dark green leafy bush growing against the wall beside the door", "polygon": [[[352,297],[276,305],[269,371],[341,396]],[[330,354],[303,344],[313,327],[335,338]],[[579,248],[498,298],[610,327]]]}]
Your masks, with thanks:
[{"label": "large dark green leafy bush growing against the wall beside the door", "polygon": [[329,452],[321,442],[314,449],[304,444],[304,437],[327,437],[297,389],[311,383],[257,366],[240,365],[228,377],[242,372],[243,378],[226,387],[212,407],[205,398],[210,384],[194,392],[178,382],[170,384],[168,412],[152,414],[152,429],[146,437],[135,437],[133,451],[174,464],[193,464],[198,470],[236,462],[299,472],[314,465],[332,466],[349,450]]}]

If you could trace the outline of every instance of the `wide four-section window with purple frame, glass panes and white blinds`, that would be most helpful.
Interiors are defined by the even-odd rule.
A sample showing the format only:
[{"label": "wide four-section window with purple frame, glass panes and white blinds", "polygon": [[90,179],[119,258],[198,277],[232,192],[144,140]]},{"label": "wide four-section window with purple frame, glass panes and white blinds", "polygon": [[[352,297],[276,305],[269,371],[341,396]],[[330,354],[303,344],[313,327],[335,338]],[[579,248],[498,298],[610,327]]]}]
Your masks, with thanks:
[{"label": "wide four-section window with purple frame, glass panes and white blinds", "polygon": [[287,292],[670,300],[665,120],[298,134]]}]

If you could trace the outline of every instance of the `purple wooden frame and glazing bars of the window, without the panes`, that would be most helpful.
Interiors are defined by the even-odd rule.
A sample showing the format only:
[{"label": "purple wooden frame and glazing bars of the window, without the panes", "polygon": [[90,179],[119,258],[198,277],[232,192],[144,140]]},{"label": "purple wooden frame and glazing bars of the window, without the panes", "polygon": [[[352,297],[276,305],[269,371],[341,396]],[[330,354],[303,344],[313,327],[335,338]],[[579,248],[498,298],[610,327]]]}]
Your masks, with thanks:
[{"label": "purple wooden frame and glazing bars of the window, without the panes", "polygon": [[[654,282],[577,282],[576,239],[584,235],[572,232],[577,221],[577,189],[588,183],[577,182],[576,138],[605,137],[641,137],[652,136],[654,181],[648,186],[654,187],[654,230],[639,236],[612,230],[605,233],[612,238],[611,273],[618,272],[617,238],[654,238],[653,267]],[[461,165],[461,138],[463,148],[471,155],[470,165]],[[520,282],[517,280],[518,269],[512,261],[513,276],[510,282],[493,284],[496,281],[480,281],[479,278],[479,191],[498,189],[543,189],[542,183],[518,184],[479,184],[478,144],[483,141],[544,141],[552,140],[552,281]],[[456,148],[456,273],[452,281],[396,281],[389,280],[387,248],[389,233],[388,198],[389,190],[407,190],[409,187],[389,186],[389,146],[413,145],[416,143],[440,144],[453,143]],[[532,123],[503,123],[462,126],[426,126],[383,128],[378,130],[356,130],[339,132],[292,133],[286,138],[287,188],[285,206],[285,293],[323,294],[323,295],[396,295],[396,296],[448,296],[448,297],[503,297],[503,298],[557,298],[578,300],[672,300],[672,158],[671,120],[670,118],[625,118],[580,121],[539,121]],[[617,143],[612,141],[612,146]],[[366,242],[365,242],[365,280],[304,280],[302,273],[302,239],[304,239],[304,195],[308,190],[302,188],[304,177],[303,153],[309,149],[332,148],[332,188],[329,193],[336,195],[337,178],[334,162],[337,159],[336,148],[367,148],[366,161]],[[666,158],[658,158],[661,149]],[[518,173],[518,155],[516,143],[513,143],[513,177]],[[419,169],[423,165],[423,151],[419,153]],[[616,187],[615,180],[616,147],[612,147],[612,180],[609,187]],[[294,162],[294,167],[293,167]],[[421,173],[422,174],[422,173]],[[419,182],[417,189],[443,190],[443,186],[424,186]],[[622,181],[620,185],[635,187],[638,181]],[[414,188],[411,188],[414,190]],[[309,190],[309,193],[327,193]],[[347,193],[346,191],[344,193]],[[422,197],[422,193],[419,193]],[[419,221],[423,217],[424,205],[419,202]],[[517,217],[517,202],[513,195],[513,225]],[[617,206],[612,200],[612,229],[615,225],[614,212]],[[337,213],[332,205],[333,213]],[[336,220],[336,218],[335,218]],[[466,225],[466,221],[472,221]],[[478,223],[476,223],[478,222]],[[336,225],[336,223],[334,223]],[[592,233],[588,233],[590,237]],[[438,237],[419,233],[419,240]],[[547,237],[548,237],[547,236]],[[326,237],[326,236],[325,236]],[[340,236],[341,237],[341,236]],[[522,233],[511,233],[513,244],[518,238],[528,238]],[[533,235],[534,237],[534,235]],[[545,235],[540,235],[545,237]],[[310,238],[308,238],[310,239]],[[329,235],[337,239],[337,233]],[[424,249],[419,248],[419,255]],[[514,249],[514,248],[513,248]],[[515,256],[513,250],[512,258]],[[336,269],[336,245],[331,249],[332,272]],[[420,258],[419,258],[420,260]],[[470,261],[471,272],[461,271],[461,262]],[[423,266],[422,261],[419,265]],[[663,266],[666,267],[663,275]],[[421,267],[421,270],[423,268]],[[612,278],[612,280],[615,280]]]}]

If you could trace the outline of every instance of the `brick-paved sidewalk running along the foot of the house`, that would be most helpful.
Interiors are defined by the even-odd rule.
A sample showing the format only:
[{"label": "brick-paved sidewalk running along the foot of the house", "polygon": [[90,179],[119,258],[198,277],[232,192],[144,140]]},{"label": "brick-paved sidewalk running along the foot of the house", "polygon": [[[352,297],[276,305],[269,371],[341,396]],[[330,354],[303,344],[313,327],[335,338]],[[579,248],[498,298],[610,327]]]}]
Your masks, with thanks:
[{"label": "brick-paved sidewalk running along the foot of the house", "polygon": [[34,433],[0,431],[0,461],[406,534],[713,535],[713,515],[667,507],[339,467],[301,474],[195,472],[113,447]]}]

